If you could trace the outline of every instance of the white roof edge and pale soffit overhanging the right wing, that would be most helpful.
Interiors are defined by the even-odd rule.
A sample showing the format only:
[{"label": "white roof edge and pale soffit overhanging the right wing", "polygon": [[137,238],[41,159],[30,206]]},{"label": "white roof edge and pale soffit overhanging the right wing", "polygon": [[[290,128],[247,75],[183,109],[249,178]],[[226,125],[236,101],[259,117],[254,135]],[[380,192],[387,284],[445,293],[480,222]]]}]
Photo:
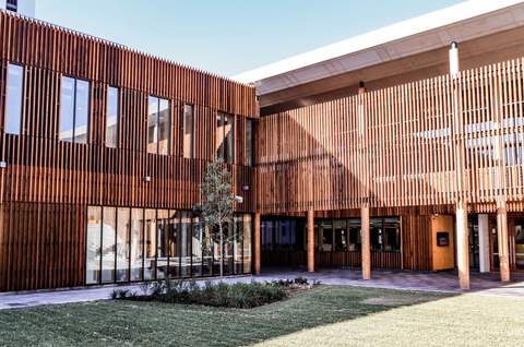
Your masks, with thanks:
[{"label": "white roof edge and pale soffit overhanging the right wing", "polygon": [[523,0],[469,0],[254,69],[233,79],[259,95],[524,25]]}]

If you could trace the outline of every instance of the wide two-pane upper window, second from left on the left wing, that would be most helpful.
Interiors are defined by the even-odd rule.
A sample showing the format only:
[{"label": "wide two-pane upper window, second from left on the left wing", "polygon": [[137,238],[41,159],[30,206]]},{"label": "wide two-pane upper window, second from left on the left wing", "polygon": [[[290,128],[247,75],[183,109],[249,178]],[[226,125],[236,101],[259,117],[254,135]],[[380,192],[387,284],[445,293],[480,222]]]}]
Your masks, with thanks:
[{"label": "wide two-pane upper window, second from left on the left wing", "polygon": [[58,139],[87,143],[88,119],[90,82],[62,76]]}]

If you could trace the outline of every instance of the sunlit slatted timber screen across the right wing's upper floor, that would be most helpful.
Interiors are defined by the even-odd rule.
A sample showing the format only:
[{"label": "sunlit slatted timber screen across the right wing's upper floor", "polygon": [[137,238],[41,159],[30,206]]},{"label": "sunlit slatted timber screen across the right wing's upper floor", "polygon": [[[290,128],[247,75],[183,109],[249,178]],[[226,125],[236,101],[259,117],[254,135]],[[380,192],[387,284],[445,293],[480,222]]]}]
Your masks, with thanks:
[{"label": "sunlit slatted timber screen across the right wing's upper floor", "polygon": [[465,195],[479,212],[498,196],[522,210],[523,115],[520,59],[263,117],[258,206],[443,206]]}]

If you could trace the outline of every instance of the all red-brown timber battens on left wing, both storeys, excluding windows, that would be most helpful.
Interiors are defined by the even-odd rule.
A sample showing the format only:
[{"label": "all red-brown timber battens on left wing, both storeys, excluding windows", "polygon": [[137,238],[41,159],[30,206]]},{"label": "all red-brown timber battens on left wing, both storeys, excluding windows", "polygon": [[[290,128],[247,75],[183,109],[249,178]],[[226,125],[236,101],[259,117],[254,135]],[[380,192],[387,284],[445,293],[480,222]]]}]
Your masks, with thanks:
[{"label": "all red-brown timber battens on left wing, both storeys, excluding windows", "polygon": [[[20,134],[4,129],[9,64],[23,67]],[[88,83],[85,143],[59,141],[64,77]],[[118,97],[108,100],[111,88]],[[218,112],[237,120],[228,168],[243,203],[235,210],[254,211],[254,169],[245,157],[247,119],[257,117],[252,87],[0,11],[0,291],[85,285],[87,206],[189,213],[215,156]],[[148,96],[169,103],[168,155],[147,153]],[[191,158],[183,157],[184,105],[193,106]],[[111,131],[108,109],[118,112]]]}]

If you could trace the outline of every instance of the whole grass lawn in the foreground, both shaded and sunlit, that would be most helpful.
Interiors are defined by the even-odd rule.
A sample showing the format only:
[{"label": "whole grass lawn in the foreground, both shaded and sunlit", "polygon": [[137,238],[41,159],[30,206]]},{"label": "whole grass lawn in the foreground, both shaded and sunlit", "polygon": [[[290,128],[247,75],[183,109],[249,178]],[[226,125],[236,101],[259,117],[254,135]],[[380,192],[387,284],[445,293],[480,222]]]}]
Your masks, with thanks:
[{"label": "whole grass lawn in the foreground, both shaded and sunlit", "polygon": [[321,286],[252,310],[100,301],[0,311],[0,346],[522,346],[524,299]]}]

